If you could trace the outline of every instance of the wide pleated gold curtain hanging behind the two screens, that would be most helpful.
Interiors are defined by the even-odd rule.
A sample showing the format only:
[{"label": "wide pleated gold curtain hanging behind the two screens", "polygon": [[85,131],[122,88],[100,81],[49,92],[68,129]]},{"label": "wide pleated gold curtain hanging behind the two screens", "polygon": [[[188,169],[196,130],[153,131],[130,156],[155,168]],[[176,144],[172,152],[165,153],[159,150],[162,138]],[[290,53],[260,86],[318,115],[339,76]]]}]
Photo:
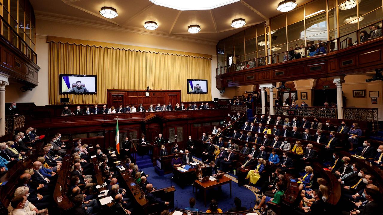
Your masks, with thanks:
[{"label": "wide pleated gold curtain hanging behind the two screens", "polygon": [[[97,75],[97,94],[60,94],[59,74]],[[208,80],[208,94],[187,94],[187,79]],[[106,89],[181,90],[182,101],[211,101],[211,59],[49,42],[49,103],[106,103]]]}]

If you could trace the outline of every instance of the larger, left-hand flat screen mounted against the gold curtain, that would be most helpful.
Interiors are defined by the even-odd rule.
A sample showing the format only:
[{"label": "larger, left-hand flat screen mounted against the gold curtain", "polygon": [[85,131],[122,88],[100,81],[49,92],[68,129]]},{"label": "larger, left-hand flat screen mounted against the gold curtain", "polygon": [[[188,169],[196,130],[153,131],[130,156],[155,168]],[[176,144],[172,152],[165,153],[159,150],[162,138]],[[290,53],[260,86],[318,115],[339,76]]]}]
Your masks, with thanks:
[{"label": "larger, left-hand flat screen mounted against the gold curtain", "polygon": [[68,75],[60,74],[60,93],[97,93],[96,75]]}]

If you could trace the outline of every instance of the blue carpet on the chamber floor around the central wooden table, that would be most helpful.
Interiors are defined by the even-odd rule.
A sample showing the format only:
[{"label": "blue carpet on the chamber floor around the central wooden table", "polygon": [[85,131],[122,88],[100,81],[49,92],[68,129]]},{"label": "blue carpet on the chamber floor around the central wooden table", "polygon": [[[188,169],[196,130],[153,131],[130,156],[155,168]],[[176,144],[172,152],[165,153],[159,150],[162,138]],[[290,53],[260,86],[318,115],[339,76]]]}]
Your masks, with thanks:
[{"label": "blue carpet on the chamber floor around the central wooden table", "polygon": [[[140,166],[141,168],[141,166]],[[187,185],[185,187],[179,186],[177,183],[172,181],[170,178],[173,177],[173,173],[165,174],[164,176],[159,176],[154,172],[154,167],[151,166],[149,168],[141,168],[145,174],[150,174],[148,181],[152,183],[154,187],[157,189],[161,189],[164,187],[174,186],[176,191],[174,194],[174,207],[178,208],[186,208],[189,207],[189,199],[190,197],[195,197],[195,193],[192,192],[193,187],[191,185]],[[236,177],[233,174],[230,174],[233,177]],[[238,197],[242,201],[242,206],[246,208],[254,207],[254,199],[255,194],[247,189],[246,187],[238,187],[238,184],[234,181],[231,182],[232,186],[232,197],[230,198],[230,188],[229,184],[225,184],[222,186],[222,193],[218,191],[218,189],[211,189],[206,192],[206,207],[203,203],[203,191],[198,191],[198,197],[196,199],[195,207],[199,210],[205,212],[209,207],[209,202],[211,199],[215,198],[218,202],[218,207],[226,212],[229,210],[232,205],[234,205],[234,197]]]}]

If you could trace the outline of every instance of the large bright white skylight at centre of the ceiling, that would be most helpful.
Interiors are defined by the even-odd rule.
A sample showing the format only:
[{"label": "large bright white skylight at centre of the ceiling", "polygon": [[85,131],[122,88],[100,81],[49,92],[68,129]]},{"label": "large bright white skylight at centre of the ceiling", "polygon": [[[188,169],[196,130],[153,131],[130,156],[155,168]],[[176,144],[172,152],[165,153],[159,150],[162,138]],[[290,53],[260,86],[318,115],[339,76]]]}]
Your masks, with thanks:
[{"label": "large bright white skylight at centre of the ceiling", "polygon": [[240,0],[149,0],[155,5],[160,5],[176,10],[211,10],[228,5]]}]

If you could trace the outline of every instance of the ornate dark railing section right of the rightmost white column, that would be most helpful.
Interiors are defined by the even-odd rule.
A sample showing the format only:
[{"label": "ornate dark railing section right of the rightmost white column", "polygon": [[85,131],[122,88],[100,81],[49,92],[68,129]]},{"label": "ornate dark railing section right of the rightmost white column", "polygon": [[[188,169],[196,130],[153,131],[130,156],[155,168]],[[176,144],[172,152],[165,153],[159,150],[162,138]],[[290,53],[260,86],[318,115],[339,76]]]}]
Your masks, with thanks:
[{"label": "ornate dark railing section right of the rightmost white column", "polygon": [[378,108],[343,107],[343,117],[344,119],[372,122],[373,129],[379,129]]}]

